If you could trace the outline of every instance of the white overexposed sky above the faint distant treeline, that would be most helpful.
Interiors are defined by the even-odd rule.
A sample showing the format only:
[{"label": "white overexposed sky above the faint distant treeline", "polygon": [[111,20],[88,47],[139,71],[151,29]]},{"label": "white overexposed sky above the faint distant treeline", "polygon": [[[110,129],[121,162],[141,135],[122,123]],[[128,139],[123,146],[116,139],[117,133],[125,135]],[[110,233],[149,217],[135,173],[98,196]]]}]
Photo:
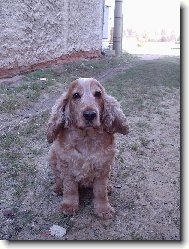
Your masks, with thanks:
[{"label": "white overexposed sky above the faint distant treeline", "polygon": [[180,32],[179,0],[123,0],[122,10],[124,28]]}]

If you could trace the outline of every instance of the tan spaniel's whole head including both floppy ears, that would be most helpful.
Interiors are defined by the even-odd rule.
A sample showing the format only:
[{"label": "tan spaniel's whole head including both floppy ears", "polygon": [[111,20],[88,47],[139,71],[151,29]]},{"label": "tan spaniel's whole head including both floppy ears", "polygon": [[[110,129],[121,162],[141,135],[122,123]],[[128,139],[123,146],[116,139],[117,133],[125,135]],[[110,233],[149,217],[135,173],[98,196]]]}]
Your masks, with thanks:
[{"label": "tan spaniel's whole head including both floppy ears", "polygon": [[57,100],[48,123],[48,141],[56,138],[60,128],[71,126],[77,129],[102,127],[109,133],[128,133],[126,117],[119,103],[93,78],[73,81]]}]

